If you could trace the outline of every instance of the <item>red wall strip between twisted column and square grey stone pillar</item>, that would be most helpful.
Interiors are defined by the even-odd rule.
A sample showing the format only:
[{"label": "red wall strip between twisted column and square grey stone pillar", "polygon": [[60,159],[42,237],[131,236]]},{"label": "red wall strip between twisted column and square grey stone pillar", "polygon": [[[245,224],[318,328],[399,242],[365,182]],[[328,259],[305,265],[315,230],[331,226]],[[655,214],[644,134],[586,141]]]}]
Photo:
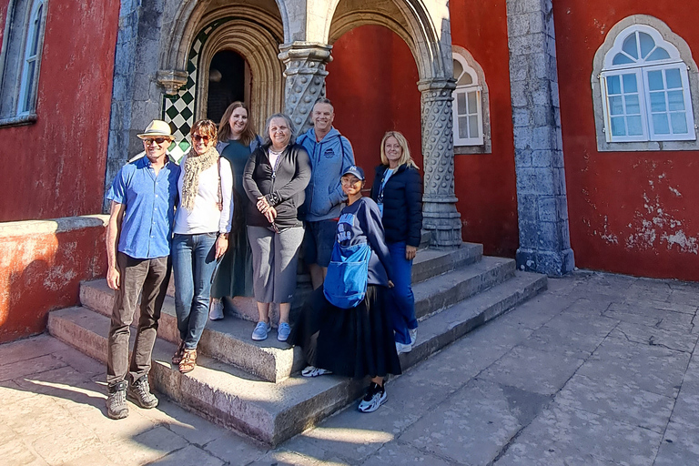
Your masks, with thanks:
[{"label": "red wall strip between twisted column and square grey stone pillar", "polygon": [[505,1],[451,1],[450,11],[451,42],[481,65],[491,102],[492,153],[455,156],[462,236],[482,243],[486,254],[514,257],[519,228]]}]

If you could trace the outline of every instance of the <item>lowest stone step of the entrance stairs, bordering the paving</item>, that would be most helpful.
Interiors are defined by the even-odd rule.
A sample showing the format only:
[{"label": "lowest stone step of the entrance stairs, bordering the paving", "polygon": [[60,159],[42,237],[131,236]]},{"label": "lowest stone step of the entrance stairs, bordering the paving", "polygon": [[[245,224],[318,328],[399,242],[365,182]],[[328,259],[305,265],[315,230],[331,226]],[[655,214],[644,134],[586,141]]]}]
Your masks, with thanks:
[{"label": "lowest stone step of the entrance stairs, bordering the paving", "polygon": [[[408,369],[545,288],[545,276],[517,272],[505,283],[423,319],[418,343],[410,353],[400,355],[401,367]],[[52,335],[102,362],[106,361],[108,327],[106,316],[86,308],[56,310],[48,319]],[[199,357],[197,369],[180,374],[171,369],[175,349],[157,339],[150,372],[154,389],[188,410],[272,446],[356,400],[366,382],[297,375],[270,383],[206,356]]]}]

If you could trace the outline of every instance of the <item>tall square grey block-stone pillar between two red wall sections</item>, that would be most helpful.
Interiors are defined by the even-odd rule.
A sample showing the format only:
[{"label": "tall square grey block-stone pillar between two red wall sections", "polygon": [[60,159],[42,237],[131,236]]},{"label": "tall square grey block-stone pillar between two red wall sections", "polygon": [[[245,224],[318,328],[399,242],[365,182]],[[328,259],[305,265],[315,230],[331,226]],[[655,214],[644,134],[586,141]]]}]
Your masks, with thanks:
[{"label": "tall square grey block-stone pillar between two red wall sections", "polygon": [[561,135],[552,0],[507,0],[520,248],[517,265],[574,268]]}]

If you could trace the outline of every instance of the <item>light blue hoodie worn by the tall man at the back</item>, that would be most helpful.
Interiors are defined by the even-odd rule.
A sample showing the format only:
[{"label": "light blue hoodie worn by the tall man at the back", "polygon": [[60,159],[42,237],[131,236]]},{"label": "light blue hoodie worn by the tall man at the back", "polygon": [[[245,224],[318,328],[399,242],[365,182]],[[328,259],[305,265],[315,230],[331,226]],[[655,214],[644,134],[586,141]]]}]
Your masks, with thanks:
[{"label": "light blue hoodie worn by the tall man at the back", "polygon": [[310,182],[303,205],[306,221],[338,218],[341,203],[347,198],[339,178],[354,165],[354,153],[348,138],[332,127],[322,141],[316,142],[316,131],[310,128],[296,142],[310,157]]}]

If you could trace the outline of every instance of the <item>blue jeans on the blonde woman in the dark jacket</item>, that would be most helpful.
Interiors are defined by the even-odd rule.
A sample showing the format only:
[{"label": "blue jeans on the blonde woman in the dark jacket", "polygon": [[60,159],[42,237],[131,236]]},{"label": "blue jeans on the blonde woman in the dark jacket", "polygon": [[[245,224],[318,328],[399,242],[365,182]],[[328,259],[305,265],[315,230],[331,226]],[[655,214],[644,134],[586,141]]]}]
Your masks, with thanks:
[{"label": "blue jeans on the blonde woman in the dark jacket", "polygon": [[393,320],[393,330],[396,341],[410,343],[408,329],[417,329],[415,319],[415,296],[412,294],[412,260],[405,258],[405,243],[388,243],[390,265],[393,268],[393,302],[390,304],[390,317]]}]

